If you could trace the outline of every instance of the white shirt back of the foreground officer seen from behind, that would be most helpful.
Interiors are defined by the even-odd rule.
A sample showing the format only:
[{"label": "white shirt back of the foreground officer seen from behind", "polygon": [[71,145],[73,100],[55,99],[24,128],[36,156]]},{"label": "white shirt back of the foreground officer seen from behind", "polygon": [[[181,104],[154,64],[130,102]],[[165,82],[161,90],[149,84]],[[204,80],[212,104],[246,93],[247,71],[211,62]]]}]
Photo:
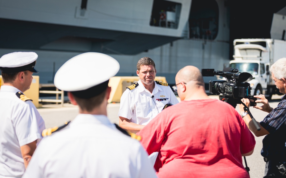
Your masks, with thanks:
[{"label": "white shirt back of the foreground officer seen from behind", "polygon": [[63,130],[43,138],[23,178],[156,177],[140,142],[104,115],[79,114]]}]

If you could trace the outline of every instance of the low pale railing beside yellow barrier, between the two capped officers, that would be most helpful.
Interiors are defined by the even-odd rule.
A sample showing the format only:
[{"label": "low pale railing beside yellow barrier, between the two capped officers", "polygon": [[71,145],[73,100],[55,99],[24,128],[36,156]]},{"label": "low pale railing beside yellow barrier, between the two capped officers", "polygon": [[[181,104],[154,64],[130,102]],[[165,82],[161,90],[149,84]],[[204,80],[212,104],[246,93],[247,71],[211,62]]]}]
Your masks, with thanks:
[{"label": "low pale railing beside yellow barrier, between the two capped officers", "polygon": [[[46,88],[46,87],[55,87],[54,84],[39,84],[39,88]],[[55,94],[56,99],[39,99],[39,102],[50,102],[50,103],[61,103],[61,106],[63,106],[64,103],[64,91],[59,91],[57,87],[55,87],[55,91],[52,90],[40,90],[39,93],[44,94]],[[61,99],[59,99],[59,94],[61,95]]]}]

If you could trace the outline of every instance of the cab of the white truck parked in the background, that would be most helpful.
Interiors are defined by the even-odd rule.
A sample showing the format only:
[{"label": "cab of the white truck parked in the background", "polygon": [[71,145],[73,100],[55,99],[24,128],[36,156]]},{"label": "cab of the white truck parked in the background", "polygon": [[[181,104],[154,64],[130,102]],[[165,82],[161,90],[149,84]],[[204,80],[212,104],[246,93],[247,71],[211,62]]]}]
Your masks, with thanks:
[{"label": "cab of the white truck parked in the background", "polygon": [[271,39],[236,39],[233,42],[234,55],[229,66],[253,76],[249,81],[251,96],[263,94],[271,97],[268,85],[272,82],[269,73],[271,60]]}]

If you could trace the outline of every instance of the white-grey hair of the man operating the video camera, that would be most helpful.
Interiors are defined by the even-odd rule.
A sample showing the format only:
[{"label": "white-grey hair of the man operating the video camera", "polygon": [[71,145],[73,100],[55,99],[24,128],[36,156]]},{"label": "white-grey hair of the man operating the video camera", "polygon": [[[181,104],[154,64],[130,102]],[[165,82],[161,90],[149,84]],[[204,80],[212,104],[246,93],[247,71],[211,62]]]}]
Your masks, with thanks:
[{"label": "white-grey hair of the man operating the video camera", "polygon": [[277,60],[269,69],[277,79],[286,79],[286,58]]}]

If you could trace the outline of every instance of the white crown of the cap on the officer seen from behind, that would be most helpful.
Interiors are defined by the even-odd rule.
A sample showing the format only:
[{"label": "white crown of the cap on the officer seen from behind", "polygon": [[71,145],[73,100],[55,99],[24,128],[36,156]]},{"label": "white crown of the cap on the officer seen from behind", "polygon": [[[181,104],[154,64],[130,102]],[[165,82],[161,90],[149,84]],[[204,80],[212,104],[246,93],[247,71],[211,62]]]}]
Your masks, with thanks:
[{"label": "white crown of the cap on the officer seen from behind", "polygon": [[119,71],[119,63],[106,54],[87,52],[63,64],[54,84],[63,91],[82,91],[108,81]]}]

